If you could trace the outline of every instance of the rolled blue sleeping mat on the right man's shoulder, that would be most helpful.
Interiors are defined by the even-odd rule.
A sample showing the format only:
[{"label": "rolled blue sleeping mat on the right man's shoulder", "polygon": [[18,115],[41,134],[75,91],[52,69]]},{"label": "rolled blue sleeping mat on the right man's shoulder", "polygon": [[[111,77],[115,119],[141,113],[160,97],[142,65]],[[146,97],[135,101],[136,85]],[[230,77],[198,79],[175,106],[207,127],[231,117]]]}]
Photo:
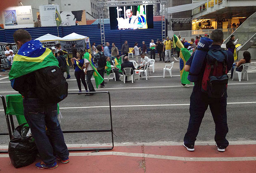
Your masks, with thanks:
[{"label": "rolled blue sleeping mat on the right man's shoulder", "polygon": [[194,54],[194,58],[190,67],[190,73],[187,79],[191,82],[197,82],[199,74],[201,72],[201,67],[204,63],[204,58],[209,51],[209,46],[212,44],[212,40],[208,37],[202,37],[197,44],[197,51]]}]

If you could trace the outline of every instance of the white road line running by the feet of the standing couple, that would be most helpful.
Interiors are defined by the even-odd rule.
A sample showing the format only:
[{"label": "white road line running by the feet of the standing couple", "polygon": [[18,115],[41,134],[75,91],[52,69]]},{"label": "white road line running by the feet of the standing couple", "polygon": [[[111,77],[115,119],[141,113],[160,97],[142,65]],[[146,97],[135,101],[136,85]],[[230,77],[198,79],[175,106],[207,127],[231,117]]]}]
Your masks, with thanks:
[{"label": "white road line running by the feet of the standing couple", "polygon": [[[251,83],[228,83],[228,85],[248,85],[248,84],[256,84],[256,82]],[[190,85],[193,87],[193,85]],[[96,90],[118,90],[118,89],[140,89],[140,88],[174,88],[181,87],[181,85],[173,85],[173,86],[146,86],[146,87],[120,87],[120,88],[98,88]],[[77,91],[78,89],[69,89],[69,91]],[[85,89],[82,89],[85,90]],[[0,91],[0,93],[17,93],[17,91]]]}]

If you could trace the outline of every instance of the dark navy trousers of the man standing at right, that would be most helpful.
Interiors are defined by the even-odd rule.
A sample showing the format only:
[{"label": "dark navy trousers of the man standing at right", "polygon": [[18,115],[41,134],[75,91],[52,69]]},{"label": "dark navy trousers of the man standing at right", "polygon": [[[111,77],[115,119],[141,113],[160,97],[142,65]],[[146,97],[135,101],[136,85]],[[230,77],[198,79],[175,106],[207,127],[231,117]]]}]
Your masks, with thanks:
[{"label": "dark navy trousers of the man standing at right", "polygon": [[194,145],[197,140],[199,127],[204,118],[204,113],[210,106],[211,114],[215,122],[215,141],[218,145],[228,147],[226,135],[228,133],[227,124],[227,94],[220,99],[209,98],[206,93],[201,92],[201,85],[195,83],[190,96],[190,120],[187,133],[184,136],[186,145]]}]

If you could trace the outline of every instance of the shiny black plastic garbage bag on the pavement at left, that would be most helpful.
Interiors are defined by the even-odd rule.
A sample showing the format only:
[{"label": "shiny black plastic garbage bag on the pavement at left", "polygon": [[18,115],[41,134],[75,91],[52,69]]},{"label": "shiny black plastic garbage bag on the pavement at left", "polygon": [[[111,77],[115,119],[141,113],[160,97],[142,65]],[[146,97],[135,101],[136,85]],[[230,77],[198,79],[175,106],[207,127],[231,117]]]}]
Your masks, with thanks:
[{"label": "shiny black plastic garbage bag on the pavement at left", "polygon": [[9,142],[8,153],[15,168],[32,164],[38,153],[33,137],[27,136],[29,127],[24,126],[25,124],[19,125],[14,130]]}]

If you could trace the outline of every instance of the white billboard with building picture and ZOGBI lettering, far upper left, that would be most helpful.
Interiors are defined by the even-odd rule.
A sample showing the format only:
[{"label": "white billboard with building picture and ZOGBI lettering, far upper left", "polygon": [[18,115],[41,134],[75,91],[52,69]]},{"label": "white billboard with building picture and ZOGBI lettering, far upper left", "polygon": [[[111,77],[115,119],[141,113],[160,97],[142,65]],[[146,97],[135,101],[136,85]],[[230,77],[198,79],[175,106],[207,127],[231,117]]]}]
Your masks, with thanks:
[{"label": "white billboard with building picture and ZOGBI lettering, far upper left", "polygon": [[8,7],[2,17],[5,29],[34,27],[31,6]]}]

